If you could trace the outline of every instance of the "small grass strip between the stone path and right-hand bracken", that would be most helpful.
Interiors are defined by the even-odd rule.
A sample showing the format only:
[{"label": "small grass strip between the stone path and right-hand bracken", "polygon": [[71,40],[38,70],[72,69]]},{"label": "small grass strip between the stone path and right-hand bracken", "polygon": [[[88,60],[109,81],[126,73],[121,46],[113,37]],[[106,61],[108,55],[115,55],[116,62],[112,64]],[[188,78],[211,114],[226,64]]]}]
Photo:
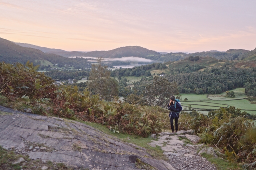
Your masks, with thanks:
[{"label": "small grass strip between the stone path and right-hand bracken", "polygon": [[204,158],[215,164],[218,170],[241,170],[242,168],[237,163],[229,163],[228,160],[221,157],[214,158],[212,155],[202,153]]}]

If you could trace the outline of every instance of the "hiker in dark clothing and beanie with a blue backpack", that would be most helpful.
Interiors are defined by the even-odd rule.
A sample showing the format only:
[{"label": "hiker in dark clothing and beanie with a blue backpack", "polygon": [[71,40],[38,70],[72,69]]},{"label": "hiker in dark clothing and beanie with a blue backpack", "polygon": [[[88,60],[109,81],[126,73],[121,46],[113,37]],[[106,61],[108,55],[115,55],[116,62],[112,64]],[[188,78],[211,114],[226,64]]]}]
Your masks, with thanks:
[{"label": "hiker in dark clothing and beanie with a blue backpack", "polygon": [[170,117],[170,124],[172,128],[172,132],[174,133],[174,127],[173,127],[173,119],[175,120],[175,133],[178,131],[178,119],[179,119],[179,113],[182,111],[182,107],[180,104],[180,100],[175,100],[175,96],[170,97],[170,102],[168,106],[168,110],[170,111],[169,117]]}]

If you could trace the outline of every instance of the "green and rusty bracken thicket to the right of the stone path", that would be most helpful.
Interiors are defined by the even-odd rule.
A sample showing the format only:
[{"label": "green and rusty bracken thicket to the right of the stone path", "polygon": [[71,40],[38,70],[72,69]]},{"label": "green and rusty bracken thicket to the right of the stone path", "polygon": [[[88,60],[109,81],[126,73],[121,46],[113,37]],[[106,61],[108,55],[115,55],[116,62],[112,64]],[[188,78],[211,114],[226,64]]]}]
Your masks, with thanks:
[{"label": "green and rusty bracken thicket to the right of the stone path", "polygon": [[[179,128],[194,129],[201,142],[225,150],[228,159],[245,162],[244,168],[256,167],[256,127],[252,116],[235,107],[220,108],[209,112],[209,117],[181,112]],[[251,119],[248,119],[251,118]]]}]

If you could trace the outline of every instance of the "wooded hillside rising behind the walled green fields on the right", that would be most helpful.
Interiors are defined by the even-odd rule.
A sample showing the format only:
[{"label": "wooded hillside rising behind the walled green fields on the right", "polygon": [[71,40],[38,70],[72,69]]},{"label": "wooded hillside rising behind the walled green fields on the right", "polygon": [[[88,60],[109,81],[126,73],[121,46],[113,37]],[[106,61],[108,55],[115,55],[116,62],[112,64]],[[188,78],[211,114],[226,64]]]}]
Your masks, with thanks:
[{"label": "wooded hillside rising behind the walled green fields on the right", "polygon": [[[194,57],[195,58],[195,57]],[[123,84],[120,95],[127,95],[136,91],[142,94],[146,84],[153,81],[153,72],[164,73],[169,82],[176,82],[179,93],[220,94],[238,87],[245,87],[246,94],[256,96],[255,78],[256,67],[246,67],[243,61],[216,60],[213,57],[200,57],[197,61],[189,59],[154,63],[134,67],[132,69],[113,70],[111,76],[116,76]],[[240,67],[240,65],[245,65]],[[133,88],[126,87],[129,76],[142,76],[141,80],[134,82]],[[155,76],[159,76],[155,75]],[[124,77],[124,79],[122,78]],[[125,81],[125,82],[124,82]],[[126,90],[125,90],[126,89]]]}]

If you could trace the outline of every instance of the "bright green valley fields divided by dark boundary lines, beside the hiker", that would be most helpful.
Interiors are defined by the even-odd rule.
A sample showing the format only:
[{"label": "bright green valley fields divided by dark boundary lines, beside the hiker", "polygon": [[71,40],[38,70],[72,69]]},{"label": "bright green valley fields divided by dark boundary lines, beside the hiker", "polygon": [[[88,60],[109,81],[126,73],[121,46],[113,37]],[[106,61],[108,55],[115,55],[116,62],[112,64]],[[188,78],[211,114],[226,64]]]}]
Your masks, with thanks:
[{"label": "bright green valley fields divided by dark boundary lines, beside the hiker", "polygon": [[[188,99],[188,101],[181,101],[181,104],[183,108],[188,109],[188,105],[190,104],[192,108],[197,109],[218,109],[220,107],[230,107],[235,106],[236,108],[241,109],[241,111],[246,110],[256,110],[256,105],[251,104],[248,100],[243,99],[245,97],[248,97],[245,95],[245,89],[244,88],[236,88],[234,90],[235,97],[225,97],[226,93],[221,93],[219,95],[209,95],[208,99],[206,96],[207,94],[181,94],[182,99],[185,98]],[[234,100],[234,99],[241,99],[241,100]],[[200,101],[203,100],[203,101]],[[205,101],[207,100],[207,101]],[[210,102],[210,103],[208,103]],[[202,106],[201,106],[202,105]],[[249,114],[256,114],[256,111],[246,111]]]}]

